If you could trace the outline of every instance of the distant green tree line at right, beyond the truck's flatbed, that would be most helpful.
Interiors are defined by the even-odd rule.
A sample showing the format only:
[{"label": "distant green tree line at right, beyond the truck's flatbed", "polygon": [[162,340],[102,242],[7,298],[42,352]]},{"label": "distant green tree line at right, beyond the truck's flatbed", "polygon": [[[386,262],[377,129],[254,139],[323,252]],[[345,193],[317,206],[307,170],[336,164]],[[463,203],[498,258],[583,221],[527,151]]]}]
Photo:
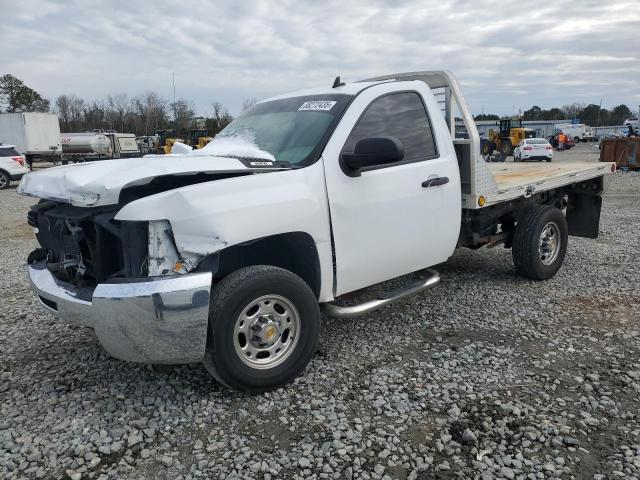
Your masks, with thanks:
[{"label": "distant green tree line at right, beyond the truck's flatbed", "polygon": [[[636,112],[637,113],[637,112]],[[625,105],[621,104],[608,110],[600,105],[572,103],[562,107],[553,107],[548,110],[542,109],[534,105],[529,110],[525,110],[519,115],[522,120],[573,120],[579,119],[580,123],[590,125],[592,127],[622,125],[622,123],[635,117],[634,112]],[[474,117],[475,120],[499,120],[500,117],[495,114],[481,114]]]}]

